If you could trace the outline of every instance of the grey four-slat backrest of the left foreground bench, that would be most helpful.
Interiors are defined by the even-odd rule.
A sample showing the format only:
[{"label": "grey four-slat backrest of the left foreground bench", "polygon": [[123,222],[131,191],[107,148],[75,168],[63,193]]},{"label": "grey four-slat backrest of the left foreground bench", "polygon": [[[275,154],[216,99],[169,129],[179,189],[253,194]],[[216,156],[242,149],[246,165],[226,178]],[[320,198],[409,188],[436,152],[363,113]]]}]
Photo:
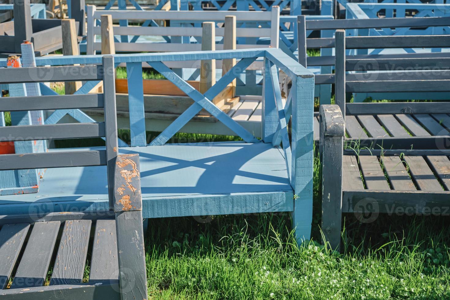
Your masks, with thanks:
[{"label": "grey four-slat backrest of the left foreground bench", "polygon": [[[13,59],[9,60],[14,63]],[[30,118],[28,110],[103,107],[105,116],[105,121],[99,123],[3,126],[0,127],[2,142],[27,143],[26,141],[35,140],[97,137],[106,139],[105,150],[3,154],[0,155],[0,170],[106,165],[108,166],[108,196],[110,207],[112,207],[114,167],[118,148],[114,72],[112,56],[103,56],[102,63],[98,65],[0,68],[1,83],[9,84],[9,93],[12,96],[1,98],[1,112],[20,111],[23,112],[23,118]],[[102,80],[104,93],[27,97],[26,83],[81,80]],[[21,90],[23,96],[14,97],[14,91],[17,90]]]}]

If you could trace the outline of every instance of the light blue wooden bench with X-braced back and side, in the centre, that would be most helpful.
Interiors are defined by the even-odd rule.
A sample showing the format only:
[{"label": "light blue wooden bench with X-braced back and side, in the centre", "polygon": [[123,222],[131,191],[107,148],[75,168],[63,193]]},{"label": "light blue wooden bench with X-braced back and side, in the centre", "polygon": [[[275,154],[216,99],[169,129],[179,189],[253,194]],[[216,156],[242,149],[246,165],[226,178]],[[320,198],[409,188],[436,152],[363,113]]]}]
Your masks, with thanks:
[{"label": "light blue wooden bench with X-braced back and side, in the centre", "polygon": [[[200,94],[162,61],[236,58],[238,63],[205,94]],[[262,139],[255,138],[208,99],[220,93],[257,58],[264,58]],[[194,103],[157,138],[146,140],[142,81],[131,81],[131,147],[119,153],[139,153],[144,218],[291,211],[297,239],[308,239],[312,217],[314,76],[279,49],[222,50],[171,54],[116,54],[115,63],[136,70],[147,62],[189,95]],[[37,65],[97,64],[99,55],[36,58]],[[293,81],[283,105],[278,70]],[[89,91],[95,81],[76,94]],[[51,90],[40,85],[43,94]],[[173,134],[201,109],[206,109],[243,141],[235,143],[170,144]],[[56,123],[68,110],[55,111]],[[292,143],[286,124],[292,119]],[[47,121],[45,120],[45,121]],[[292,146],[291,146],[292,144]],[[282,145],[283,147],[281,148]],[[49,152],[55,150],[50,149]],[[108,207],[102,167],[47,170],[37,194],[0,197],[2,211],[104,210]],[[66,184],[62,185],[61,182]],[[64,193],[62,193],[64,191]],[[45,196],[44,196],[45,195]],[[36,202],[39,199],[39,202]]]}]

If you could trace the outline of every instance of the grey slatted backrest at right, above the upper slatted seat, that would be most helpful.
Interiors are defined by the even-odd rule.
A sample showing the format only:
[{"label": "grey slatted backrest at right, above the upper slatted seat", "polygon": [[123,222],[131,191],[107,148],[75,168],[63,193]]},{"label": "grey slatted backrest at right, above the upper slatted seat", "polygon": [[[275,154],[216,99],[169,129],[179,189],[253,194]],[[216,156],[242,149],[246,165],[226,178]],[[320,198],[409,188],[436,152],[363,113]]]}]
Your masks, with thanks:
[{"label": "grey slatted backrest at right, above the upper slatted seat", "polygon": [[[344,116],[346,92],[450,91],[450,54],[448,53],[432,53],[427,57],[417,57],[415,54],[409,54],[410,57],[408,57],[406,54],[400,58],[351,59],[351,56],[347,58],[347,49],[377,48],[380,45],[384,48],[448,48],[450,36],[346,38],[344,30],[336,31],[335,94],[336,104],[341,107]],[[346,74],[347,71],[360,72]]]}]

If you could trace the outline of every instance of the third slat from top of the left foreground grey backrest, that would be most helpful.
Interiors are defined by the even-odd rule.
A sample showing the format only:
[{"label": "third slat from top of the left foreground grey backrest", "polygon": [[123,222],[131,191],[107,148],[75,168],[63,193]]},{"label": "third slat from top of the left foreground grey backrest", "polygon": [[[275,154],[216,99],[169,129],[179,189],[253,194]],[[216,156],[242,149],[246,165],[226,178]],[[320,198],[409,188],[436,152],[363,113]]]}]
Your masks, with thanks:
[{"label": "third slat from top of the left foreground grey backrest", "polygon": [[0,136],[4,141],[99,138],[105,136],[105,123],[7,126],[0,127]]}]

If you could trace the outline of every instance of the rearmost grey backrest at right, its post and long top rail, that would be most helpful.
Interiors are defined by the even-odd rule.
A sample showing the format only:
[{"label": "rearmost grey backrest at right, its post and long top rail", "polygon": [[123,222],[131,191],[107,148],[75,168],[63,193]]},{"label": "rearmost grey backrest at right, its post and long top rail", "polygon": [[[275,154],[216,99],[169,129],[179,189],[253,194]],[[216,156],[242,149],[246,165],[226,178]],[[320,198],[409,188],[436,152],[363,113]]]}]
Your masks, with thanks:
[{"label": "rearmost grey backrest at right, its post and long top rail", "polygon": [[[298,24],[298,62],[304,66],[332,66],[334,58],[307,57],[306,49],[334,48],[334,38],[308,38],[306,31],[338,30],[338,29],[374,29],[374,28],[425,28],[450,26],[450,17],[433,18],[383,18],[383,19],[340,19],[340,20],[306,20],[305,16],[297,17]],[[377,45],[379,46],[383,44]],[[410,45],[414,46],[414,45]],[[432,45],[425,46],[432,48]],[[383,48],[389,48],[383,45]],[[401,48],[401,47],[396,47]],[[415,48],[415,47],[414,47]],[[365,47],[369,49],[369,47]]]}]

